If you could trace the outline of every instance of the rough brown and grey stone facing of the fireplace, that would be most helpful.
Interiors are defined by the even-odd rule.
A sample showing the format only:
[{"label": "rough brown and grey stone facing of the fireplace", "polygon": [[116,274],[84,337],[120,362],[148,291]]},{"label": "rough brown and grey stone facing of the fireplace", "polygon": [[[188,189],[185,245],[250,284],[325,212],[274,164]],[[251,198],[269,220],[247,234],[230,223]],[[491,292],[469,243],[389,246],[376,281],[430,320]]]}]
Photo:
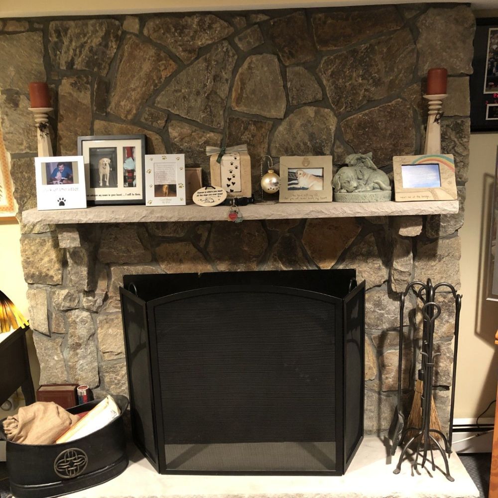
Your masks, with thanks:
[{"label": "rough brown and grey stone facing of the fireplace", "polygon": [[[185,152],[209,176],[206,145],[248,143],[257,192],[271,153],[391,157],[419,153],[423,76],[449,69],[443,151],[465,198],[475,20],[464,5],[269,10],[0,20],[0,113],[14,196],[36,206],[36,139],[27,84],[52,89],[53,143],[145,133],[147,152]],[[20,217],[19,217],[20,218]],[[367,281],[366,431],[389,426],[397,372],[397,292],[412,279],[460,286],[463,213],[429,217],[82,225],[21,225],[29,317],[41,382],[126,392],[118,288],[124,274],[355,267]],[[413,299],[411,299],[411,302]],[[444,314],[451,300],[444,301]],[[465,312],[465,307],[464,307]],[[405,401],[414,324],[407,319]],[[436,400],[448,425],[452,320],[437,331]]]}]

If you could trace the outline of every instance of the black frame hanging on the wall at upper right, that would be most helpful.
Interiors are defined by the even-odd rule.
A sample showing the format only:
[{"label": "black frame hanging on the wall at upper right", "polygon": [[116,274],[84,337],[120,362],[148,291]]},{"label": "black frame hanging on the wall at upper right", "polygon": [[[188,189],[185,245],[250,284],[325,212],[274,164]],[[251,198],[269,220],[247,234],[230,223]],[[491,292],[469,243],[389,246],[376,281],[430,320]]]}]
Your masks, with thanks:
[{"label": "black frame hanging on the wall at upper right", "polygon": [[470,77],[472,132],[498,131],[498,46],[493,50],[497,54],[497,60],[493,61],[495,74],[490,74],[488,66],[493,37],[498,39],[498,17],[476,19],[474,73]]}]

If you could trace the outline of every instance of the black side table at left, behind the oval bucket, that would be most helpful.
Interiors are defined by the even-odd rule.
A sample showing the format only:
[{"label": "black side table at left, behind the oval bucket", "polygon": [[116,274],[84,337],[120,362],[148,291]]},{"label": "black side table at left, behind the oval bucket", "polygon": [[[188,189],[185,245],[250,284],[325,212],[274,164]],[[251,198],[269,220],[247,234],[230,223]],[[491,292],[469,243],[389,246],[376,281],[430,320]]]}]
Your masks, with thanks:
[{"label": "black side table at left, behind the oval bucket", "polygon": [[19,328],[6,339],[0,334],[0,404],[19,387],[26,405],[36,401],[29,370],[26,330],[28,329]]}]

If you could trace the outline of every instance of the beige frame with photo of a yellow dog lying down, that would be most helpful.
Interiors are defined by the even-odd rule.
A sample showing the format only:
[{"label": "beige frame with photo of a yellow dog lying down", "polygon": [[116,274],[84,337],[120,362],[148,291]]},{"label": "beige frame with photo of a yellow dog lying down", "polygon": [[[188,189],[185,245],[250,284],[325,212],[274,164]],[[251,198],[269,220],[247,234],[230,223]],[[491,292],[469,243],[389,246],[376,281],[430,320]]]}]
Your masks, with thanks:
[{"label": "beige frame with photo of a yellow dog lying down", "polygon": [[332,156],[280,157],[279,202],[332,202]]}]

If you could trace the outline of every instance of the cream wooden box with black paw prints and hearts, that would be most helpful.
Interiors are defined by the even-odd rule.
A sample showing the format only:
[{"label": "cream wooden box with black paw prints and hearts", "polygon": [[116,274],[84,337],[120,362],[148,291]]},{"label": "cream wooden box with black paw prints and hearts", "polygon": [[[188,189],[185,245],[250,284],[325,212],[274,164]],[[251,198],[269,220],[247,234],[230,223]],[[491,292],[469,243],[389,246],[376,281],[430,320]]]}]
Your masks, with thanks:
[{"label": "cream wooden box with black paw prints and hearts", "polygon": [[227,199],[252,195],[250,156],[247,152],[224,154],[221,163],[218,154],[211,155],[211,185],[227,191]]}]

